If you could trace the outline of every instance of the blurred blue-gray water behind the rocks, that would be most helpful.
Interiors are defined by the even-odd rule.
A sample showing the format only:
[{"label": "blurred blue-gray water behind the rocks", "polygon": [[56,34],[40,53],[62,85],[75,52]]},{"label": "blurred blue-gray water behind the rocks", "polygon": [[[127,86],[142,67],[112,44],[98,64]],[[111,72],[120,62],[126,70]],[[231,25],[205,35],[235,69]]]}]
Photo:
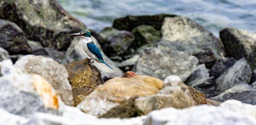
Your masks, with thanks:
[{"label": "blurred blue-gray water behind the rocks", "polygon": [[126,15],[187,16],[219,37],[225,27],[256,31],[256,0],[57,0],[88,29],[100,31]]}]

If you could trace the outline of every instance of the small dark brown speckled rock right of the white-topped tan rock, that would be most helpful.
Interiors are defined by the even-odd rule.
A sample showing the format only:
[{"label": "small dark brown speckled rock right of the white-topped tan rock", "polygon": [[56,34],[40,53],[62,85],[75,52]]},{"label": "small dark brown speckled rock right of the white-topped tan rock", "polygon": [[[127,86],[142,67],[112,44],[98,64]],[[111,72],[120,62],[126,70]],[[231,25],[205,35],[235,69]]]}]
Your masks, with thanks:
[{"label": "small dark brown speckled rock right of the white-topped tan rock", "polygon": [[196,101],[197,105],[207,104],[207,101],[205,99],[205,95],[202,92],[196,90],[192,86],[188,86],[188,89],[189,89],[189,92],[190,92],[191,96]]}]

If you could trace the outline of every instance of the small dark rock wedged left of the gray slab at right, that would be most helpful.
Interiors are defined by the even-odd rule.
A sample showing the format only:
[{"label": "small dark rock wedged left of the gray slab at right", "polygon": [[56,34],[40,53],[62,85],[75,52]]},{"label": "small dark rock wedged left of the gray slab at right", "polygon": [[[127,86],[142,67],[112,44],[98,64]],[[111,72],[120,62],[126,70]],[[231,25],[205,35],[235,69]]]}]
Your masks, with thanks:
[{"label": "small dark rock wedged left of the gray slab at right", "polygon": [[229,67],[233,66],[235,62],[236,60],[232,57],[219,59],[210,69],[210,76],[214,76],[214,79],[217,79],[224,71],[226,71]]}]

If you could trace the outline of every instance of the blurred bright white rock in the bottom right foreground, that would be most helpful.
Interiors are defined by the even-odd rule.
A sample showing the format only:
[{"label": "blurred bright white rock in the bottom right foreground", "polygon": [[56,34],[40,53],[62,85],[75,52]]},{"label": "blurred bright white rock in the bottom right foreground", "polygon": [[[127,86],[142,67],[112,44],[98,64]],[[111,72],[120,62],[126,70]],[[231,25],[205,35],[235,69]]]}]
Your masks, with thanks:
[{"label": "blurred bright white rock in the bottom right foreground", "polygon": [[[233,104],[232,104],[233,105]],[[234,104],[236,105],[236,104]],[[187,109],[172,107],[150,112],[144,125],[255,125],[252,115],[223,107],[200,105]]]}]

